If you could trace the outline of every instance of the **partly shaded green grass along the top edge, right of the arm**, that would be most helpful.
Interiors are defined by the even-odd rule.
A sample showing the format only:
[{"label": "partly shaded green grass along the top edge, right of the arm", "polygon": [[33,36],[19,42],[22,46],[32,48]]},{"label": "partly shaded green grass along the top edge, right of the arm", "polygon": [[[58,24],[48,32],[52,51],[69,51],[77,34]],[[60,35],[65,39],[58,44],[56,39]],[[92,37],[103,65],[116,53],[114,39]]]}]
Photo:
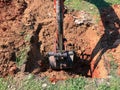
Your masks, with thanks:
[{"label": "partly shaded green grass along the top edge, right of the arm", "polygon": [[66,0],[65,5],[71,10],[83,10],[93,16],[96,22],[100,20],[100,9],[120,4],[120,0]]}]

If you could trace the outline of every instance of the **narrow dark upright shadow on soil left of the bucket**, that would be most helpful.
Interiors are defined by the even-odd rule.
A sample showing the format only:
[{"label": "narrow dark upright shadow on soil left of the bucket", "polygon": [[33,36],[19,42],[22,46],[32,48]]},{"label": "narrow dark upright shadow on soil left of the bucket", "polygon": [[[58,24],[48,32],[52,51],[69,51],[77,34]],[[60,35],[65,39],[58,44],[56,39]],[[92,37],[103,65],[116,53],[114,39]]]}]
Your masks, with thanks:
[{"label": "narrow dark upright shadow on soil left of the bucket", "polygon": [[31,37],[31,50],[28,52],[28,58],[25,66],[25,72],[32,72],[35,68],[40,68],[39,61],[41,60],[40,54],[40,42],[39,42],[39,32],[42,28],[42,25],[39,24],[36,32],[33,33]]}]

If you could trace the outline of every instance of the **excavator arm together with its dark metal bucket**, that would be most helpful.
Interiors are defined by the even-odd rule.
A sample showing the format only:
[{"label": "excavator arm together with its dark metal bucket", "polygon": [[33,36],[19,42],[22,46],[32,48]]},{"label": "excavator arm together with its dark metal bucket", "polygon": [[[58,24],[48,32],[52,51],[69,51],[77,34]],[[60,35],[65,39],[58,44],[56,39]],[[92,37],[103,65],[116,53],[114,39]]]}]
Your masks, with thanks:
[{"label": "excavator arm together with its dark metal bucket", "polygon": [[54,0],[56,7],[57,19],[57,39],[56,51],[48,53],[49,63],[52,69],[67,69],[72,68],[74,60],[73,51],[65,51],[63,45],[63,0]]}]

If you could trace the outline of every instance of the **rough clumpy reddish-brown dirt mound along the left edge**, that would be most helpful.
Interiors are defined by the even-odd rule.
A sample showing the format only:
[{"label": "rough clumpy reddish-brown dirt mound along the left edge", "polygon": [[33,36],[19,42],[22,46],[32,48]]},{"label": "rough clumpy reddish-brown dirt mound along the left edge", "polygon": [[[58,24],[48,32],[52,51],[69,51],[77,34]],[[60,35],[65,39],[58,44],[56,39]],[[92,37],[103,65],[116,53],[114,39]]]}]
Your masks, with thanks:
[{"label": "rough clumpy reddish-brown dirt mound along the left edge", "polygon": [[27,4],[24,1],[0,1],[0,75],[14,74],[16,52],[24,44],[20,36],[20,19]]}]

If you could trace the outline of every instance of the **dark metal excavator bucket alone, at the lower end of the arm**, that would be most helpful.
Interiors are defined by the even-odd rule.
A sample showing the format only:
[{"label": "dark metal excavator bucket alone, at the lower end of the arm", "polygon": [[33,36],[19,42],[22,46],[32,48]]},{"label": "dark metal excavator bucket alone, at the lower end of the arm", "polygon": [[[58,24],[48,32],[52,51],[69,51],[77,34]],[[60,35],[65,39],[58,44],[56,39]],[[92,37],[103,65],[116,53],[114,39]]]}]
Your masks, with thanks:
[{"label": "dark metal excavator bucket alone, at the lower end of the arm", "polygon": [[72,68],[74,60],[74,52],[49,53],[49,63],[52,69],[68,69]]}]

